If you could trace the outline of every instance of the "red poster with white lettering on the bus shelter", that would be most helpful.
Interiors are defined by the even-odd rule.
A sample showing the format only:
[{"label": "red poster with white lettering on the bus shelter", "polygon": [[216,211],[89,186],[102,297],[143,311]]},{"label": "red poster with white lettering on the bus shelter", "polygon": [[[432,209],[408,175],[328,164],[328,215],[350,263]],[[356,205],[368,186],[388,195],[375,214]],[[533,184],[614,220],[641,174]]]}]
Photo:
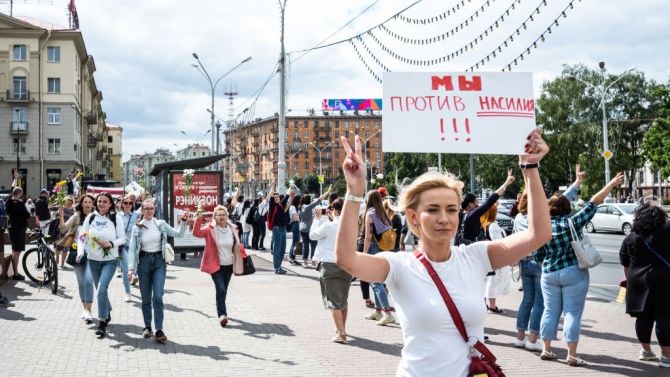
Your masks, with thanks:
[{"label": "red poster with white lettering on the bus shelter", "polygon": [[186,209],[190,211],[188,218],[188,227],[184,237],[174,238],[174,246],[204,246],[204,238],[196,238],[193,236],[193,224],[195,223],[195,213],[198,206],[203,211],[203,224],[206,224],[212,219],[214,207],[221,203],[222,199],[222,175],[216,174],[220,172],[198,171],[193,173],[191,186],[188,187],[184,180],[182,172],[174,172],[171,174],[172,179],[172,193],[170,200],[174,207],[174,212],[171,216],[171,226],[179,229],[181,219],[184,217]]}]

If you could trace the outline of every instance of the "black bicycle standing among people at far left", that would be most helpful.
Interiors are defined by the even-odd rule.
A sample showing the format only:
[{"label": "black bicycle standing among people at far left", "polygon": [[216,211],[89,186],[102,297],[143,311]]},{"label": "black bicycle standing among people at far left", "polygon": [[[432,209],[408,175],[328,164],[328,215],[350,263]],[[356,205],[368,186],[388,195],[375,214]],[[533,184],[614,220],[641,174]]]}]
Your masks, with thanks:
[{"label": "black bicycle standing among people at far left", "polygon": [[48,234],[44,235],[43,233],[44,228],[48,226],[49,223],[29,231],[28,235],[30,237],[37,235],[37,240],[34,241],[37,247],[26,251],[23,255],[23,270],[30,280],[40,284],[40,286],[48,284],[51,288],[51,293],[56,294],[58,291],[56,255],[48,244],[51,236]]}]

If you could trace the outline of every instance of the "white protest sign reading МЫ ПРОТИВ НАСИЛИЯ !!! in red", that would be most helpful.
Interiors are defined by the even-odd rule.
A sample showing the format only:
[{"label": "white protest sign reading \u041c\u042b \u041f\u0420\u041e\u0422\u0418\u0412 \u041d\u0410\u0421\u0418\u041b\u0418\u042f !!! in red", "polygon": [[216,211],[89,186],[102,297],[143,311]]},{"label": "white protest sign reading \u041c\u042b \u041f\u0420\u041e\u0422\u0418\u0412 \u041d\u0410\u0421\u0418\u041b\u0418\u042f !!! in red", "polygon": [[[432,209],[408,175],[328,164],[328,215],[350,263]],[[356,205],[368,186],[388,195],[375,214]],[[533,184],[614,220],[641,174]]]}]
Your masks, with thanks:
[{"label": "white protest sign reading \u041c\u042b \u041f\u0420\u041e\u0422\u0418\u0412 \u041d\u0410\u0421\u0418\u041b\u0418\u042f !!! in red", "polygon": [[524,154],[531,73],[384,74],[384,152]]}]

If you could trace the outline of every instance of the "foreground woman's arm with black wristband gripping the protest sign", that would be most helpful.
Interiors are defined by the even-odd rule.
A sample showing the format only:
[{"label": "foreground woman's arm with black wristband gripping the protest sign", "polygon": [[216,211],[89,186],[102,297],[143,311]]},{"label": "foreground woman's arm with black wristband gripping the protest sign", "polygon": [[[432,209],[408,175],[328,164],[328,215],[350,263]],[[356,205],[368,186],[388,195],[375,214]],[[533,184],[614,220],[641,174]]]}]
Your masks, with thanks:
[{"label": "foreground woman's arm with black wristband gripping the protest sign", "polygon": [[[527,155],[519,156],[520,164],[540,162],[549,152],[542,140],[542,131],[535,129],[528,137]],[[521,169],[528,193],[528,229],[502,240],[489,243],[488,255],[493,269],[512,264],[539,249],[551,239],[551,218],[538,168]]]}]

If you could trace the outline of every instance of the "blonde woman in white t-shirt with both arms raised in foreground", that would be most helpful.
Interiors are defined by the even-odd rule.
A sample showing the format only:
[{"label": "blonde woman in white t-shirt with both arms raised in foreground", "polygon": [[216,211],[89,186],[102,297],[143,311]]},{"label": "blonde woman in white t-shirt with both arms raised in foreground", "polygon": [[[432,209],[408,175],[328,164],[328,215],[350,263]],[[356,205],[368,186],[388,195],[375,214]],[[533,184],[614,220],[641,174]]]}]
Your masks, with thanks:
[{"label": "blonde woman in white t-shirt with both arms raised in foreground", "polygon": [[[463,183],[452,176],[426,173],[402,189],[399,210],[421,241],[418,250],[446,286],[471,338],[484,339],[486,306],[482,300],[484,277],[494,269],[518,261],[551,239],[549,209],[538,173],[538,163],[549,151],[536,129],[523,141],[519,156],[528,190],[531,219],[527,231],[505,239],[450,246],[458,229]],[[347,195],[337,233],[335,260],[342,269],[364,281],[384,282],[393,295],[403,328],[404,348],[398,376],[466,376],[471,358],[435,283],[412,253],[357,253],[356,217],[363,202],[365,163],[361,139],[355,151],[342,138],[346,159],[342,164]],[[472,339],[474,339],[472,338]],[[445,352],[448,350],[448,352]]]}]

